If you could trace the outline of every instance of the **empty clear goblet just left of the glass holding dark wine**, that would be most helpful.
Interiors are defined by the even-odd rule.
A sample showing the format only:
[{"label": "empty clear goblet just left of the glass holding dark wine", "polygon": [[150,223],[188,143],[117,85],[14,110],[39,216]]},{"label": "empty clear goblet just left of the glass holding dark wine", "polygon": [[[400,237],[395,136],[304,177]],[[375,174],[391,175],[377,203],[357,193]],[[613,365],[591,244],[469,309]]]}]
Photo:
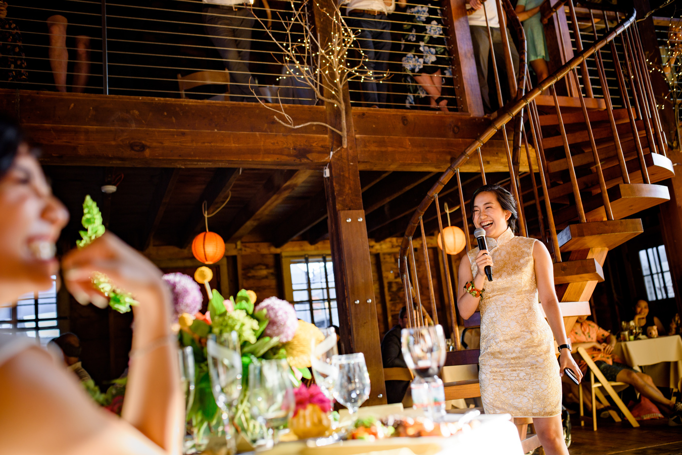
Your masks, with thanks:
[{"label": "empty clear goblet just left of the glass holding dark wine", "polygon": [[331,364],[338,368],[333,393],[336,401],[354,414],[370,398],[370,374],[363,353],[334,355]]}]

